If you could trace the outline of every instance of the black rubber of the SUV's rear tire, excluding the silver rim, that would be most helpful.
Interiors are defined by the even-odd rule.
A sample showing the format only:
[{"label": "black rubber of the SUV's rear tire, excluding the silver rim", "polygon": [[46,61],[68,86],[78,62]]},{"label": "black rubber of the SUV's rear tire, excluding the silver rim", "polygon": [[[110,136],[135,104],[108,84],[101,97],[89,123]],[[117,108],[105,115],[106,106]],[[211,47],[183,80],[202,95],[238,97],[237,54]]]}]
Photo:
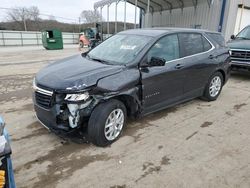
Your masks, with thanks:
[{"label": "black rubber of the SUV's rear tire, excluding the silver rim", "polygon": [[[212,82],[212,80],[215,78],[215,77],[219,77],[220,78],[220,81],[221,81],[221,87],[220,87],[220,90],[219,90],[219,92],[215,95],[215,96],[212,96],[211,94],[210,94],[210,86],[211,86],[211,82]],[[223,79],[223,75],[220,73],[220,72],[215,72],[210,78],[209,78],[209,80],[208,80],[208,83],[207,83],[207,85],[206,85],[206,88],[205,88],[205,91],[204,91],[204,94],[203,94],[203,97],[202,97],[202,99],[204,99],[204,100],[206,100],[206,101],[215,101],[218,97],[219,97],[219,95],[220,95],[220,93],[221,93],[221,90],[222,90],[222,87],[223,87],[223,81],[224,79]]]}]

